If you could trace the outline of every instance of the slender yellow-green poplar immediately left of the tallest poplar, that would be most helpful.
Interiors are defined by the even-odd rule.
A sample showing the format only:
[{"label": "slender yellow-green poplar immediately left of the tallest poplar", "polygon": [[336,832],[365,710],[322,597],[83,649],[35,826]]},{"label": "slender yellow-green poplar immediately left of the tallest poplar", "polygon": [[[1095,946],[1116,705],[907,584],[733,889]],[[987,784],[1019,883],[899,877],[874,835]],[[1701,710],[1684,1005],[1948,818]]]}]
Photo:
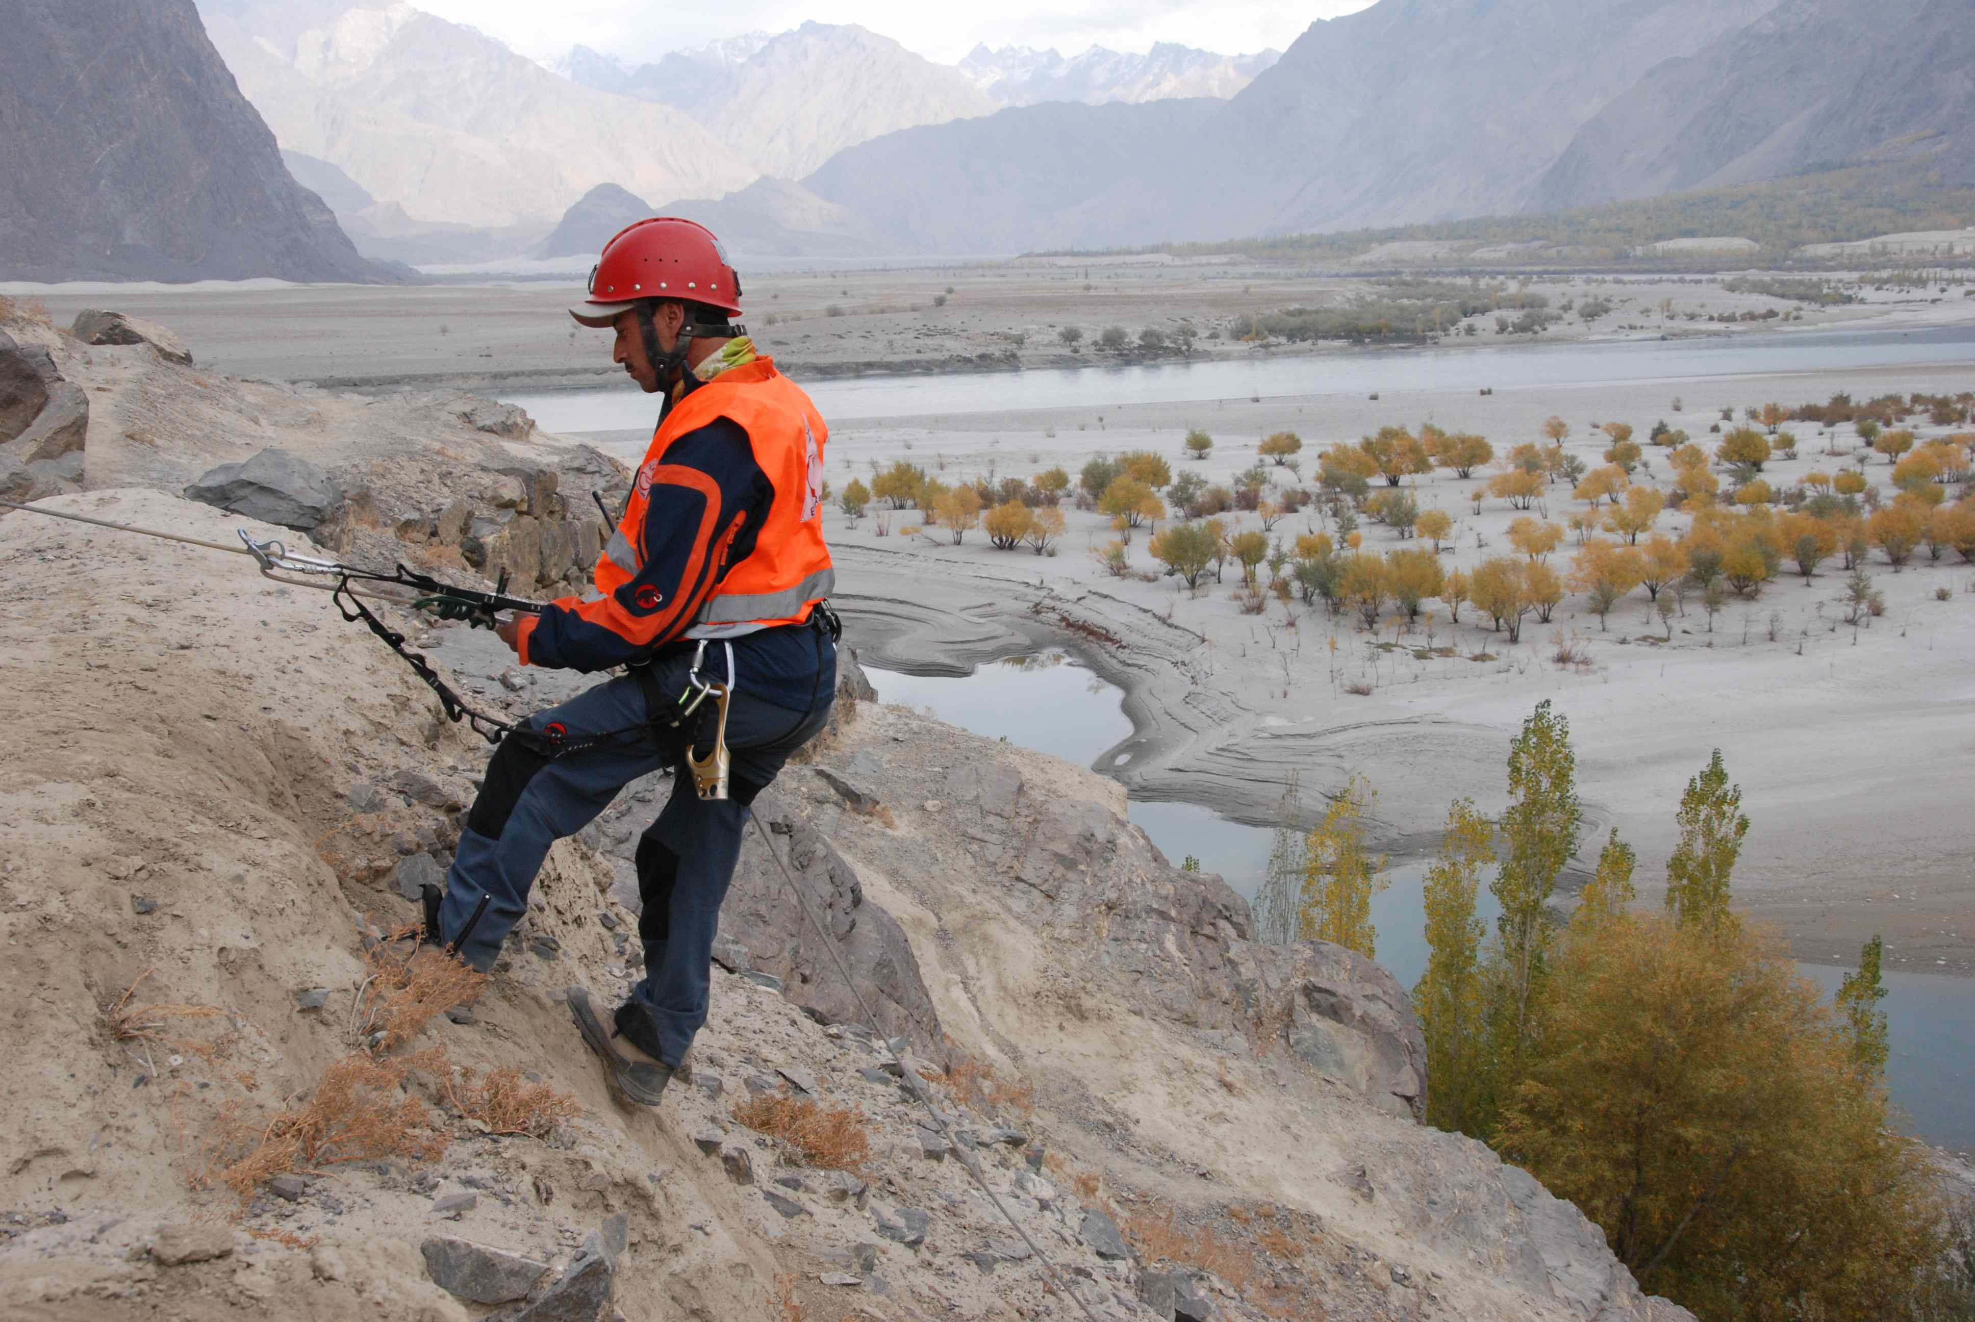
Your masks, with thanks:
[{"label": "slender yellow-green poplar immediately left of the tallest poplar", "polygon": [[1491,1093],[1481,996],[1481,868],[1495,862],[1493,826],[1462,798],[1448,810],[1440,860],[1426,869],[1426,976],[1412,1008],[1426,1033],[1426,1122],[1475,1132],[1477,1099]]}]

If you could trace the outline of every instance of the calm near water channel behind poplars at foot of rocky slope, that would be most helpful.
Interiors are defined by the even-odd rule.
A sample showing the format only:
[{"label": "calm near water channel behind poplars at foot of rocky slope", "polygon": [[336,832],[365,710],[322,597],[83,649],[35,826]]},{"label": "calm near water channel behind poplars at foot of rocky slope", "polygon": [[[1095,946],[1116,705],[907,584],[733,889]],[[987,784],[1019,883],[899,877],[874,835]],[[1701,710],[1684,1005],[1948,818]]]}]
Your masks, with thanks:
[{"label": "calm near water channel behind poplars at foot of rocky slope", "polygon": [[[989,739],[1007,739],[1084,767],[1110,767],[1112,749],[1132,737],[1124,690],[1063,652],[989,662],[964,678],[912,676],[865,666],[881,702],[932,709],[942,721]],[[1254,897],[1268,868],[1274,832],[1230,822],[1187,802],[1132,800],[1132,822],[1175,866],[1193,856]],[[1379,962],[1410,988],[1426,972],[1424,860],[1394,860],[1390,885],[1373,899]],[[1483,887],[1481,919],[1493,929],[1501,909]],[[1845,968],[1797,964],[1829,996]],[[1892,1057],[1886,1079],[1894,1105],[1930,1142],[1975,1148],[1975,980],[1884,974]]]}]

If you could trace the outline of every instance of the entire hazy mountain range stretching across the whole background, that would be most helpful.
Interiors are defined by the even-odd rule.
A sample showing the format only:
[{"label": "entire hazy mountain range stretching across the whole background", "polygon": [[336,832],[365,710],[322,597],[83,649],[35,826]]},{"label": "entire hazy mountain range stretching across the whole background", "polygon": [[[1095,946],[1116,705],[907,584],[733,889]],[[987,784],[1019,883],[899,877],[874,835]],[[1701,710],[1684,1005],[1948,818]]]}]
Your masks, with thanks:
[{"label": "entire hazy mountain range stretching across the whole background", "polygon": [[1379,0],[1280,57],[960,65],[804,24],[636,67],[577,47],[561,71],[409,4],[198,4],[14,0],[0,271],[361,281],[385,273],[357,251],[563,259],[644,209],[743,257],[995,255],[1548,213],[1851,162],[1918,180],[1902,196],[1975,186],[1969,0]]}]

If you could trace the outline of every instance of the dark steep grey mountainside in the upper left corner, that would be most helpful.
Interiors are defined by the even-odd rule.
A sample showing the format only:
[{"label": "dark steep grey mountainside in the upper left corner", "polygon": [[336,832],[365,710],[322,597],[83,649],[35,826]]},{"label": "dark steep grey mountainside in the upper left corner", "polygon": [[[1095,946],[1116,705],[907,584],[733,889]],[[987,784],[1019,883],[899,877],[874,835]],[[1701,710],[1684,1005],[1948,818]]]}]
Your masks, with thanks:
[{"label": "dark steep grey mountainside in the upper left corner", "polygon": [[397,279],[288,174],[194,0],[18,0],[0,41],[0,279]]}]

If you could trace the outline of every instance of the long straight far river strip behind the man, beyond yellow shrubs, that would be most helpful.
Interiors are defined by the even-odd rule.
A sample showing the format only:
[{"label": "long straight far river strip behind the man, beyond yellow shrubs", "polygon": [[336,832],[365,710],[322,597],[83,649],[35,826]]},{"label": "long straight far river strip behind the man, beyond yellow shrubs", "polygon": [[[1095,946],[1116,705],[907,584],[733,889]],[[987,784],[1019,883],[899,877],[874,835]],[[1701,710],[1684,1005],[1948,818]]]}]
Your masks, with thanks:
[{"label": "long straight far river strip behind the man, beyond yellow shrubs", "polygon": [[[1262,354],[1213,362],[806,381],[833,423],[1001,409],[1102,407],[1280,395],[1367,395],[1602,381],[1685,381],[1975,362],[1975,324],[1928,330],[1772,330],[1693,340]],[[502,393],[543,431],[648,431],[656,409],[628,379]]]}]

